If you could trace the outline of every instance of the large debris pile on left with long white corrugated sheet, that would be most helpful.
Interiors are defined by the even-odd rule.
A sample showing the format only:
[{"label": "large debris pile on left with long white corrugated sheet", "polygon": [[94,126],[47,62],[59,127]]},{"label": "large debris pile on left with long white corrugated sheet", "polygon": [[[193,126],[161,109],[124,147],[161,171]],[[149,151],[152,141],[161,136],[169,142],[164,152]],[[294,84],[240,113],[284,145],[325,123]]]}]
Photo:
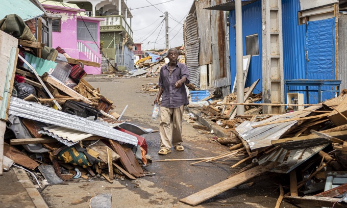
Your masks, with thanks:
[{"label": "large debris pile on left with long white corrugated sheet", "polygon": [[53,185],[101,175],[112,183],[114,172],[143,177],[147,145],[139,135],[152,129],[121,121],[113,102],[83,79],[83,64],[98,63],[59,47],[42,59],[43,43],[12,35],[0,31],[0,175],[22,166],[38,186],[44,178]]}]

